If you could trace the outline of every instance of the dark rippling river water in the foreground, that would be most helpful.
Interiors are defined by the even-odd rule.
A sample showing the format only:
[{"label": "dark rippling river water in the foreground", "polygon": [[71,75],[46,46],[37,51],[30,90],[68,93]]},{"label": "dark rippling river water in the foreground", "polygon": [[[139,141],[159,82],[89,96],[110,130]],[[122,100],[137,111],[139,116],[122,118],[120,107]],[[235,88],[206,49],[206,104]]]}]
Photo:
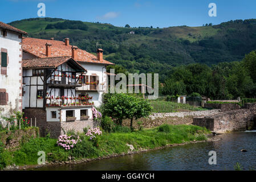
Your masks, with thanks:
[{"label": "dark rippling river water in the foreground", "polygon": [[[243,170],[256,170],[256,131],[222,134],[215,138],[215,142],[166,147],[141,154],[37,170],[234,170],[237,162]],[[247,152],[241,152],[242,149]],[[216,165],[208,163],[209,151],[216,151]]]}]

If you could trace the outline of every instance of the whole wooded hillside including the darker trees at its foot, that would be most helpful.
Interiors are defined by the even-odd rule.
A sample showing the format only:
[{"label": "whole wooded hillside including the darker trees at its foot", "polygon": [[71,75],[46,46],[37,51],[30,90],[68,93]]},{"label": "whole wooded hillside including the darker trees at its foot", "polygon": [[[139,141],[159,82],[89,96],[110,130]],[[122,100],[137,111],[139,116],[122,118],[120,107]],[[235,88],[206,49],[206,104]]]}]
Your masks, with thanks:
[{"label": "whole wooded hillside including the darker trees at its foot", "polygon": [[59,18],[32,18],[10,24],[34,38],[68,37],[71,44],[91,53],[103,48],[104,59],[130,73],[159,73],[160,82],[166,85],[164,94],[255,96],[255,67],[248,67],[246,60],[256,49],[256,19],[168,28],[131,27],[125,23],[125,27],[115,27]]}]

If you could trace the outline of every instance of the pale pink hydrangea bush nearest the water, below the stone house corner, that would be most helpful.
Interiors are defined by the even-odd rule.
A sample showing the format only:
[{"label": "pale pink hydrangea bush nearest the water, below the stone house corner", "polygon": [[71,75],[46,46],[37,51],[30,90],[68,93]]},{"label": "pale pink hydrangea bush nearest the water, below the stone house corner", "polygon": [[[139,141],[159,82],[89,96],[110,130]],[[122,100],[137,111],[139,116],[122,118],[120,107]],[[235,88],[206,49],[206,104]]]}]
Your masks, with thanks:
[{"label": "pale pink hydrangea bush nearest the water, below the stone house corner", "polygon": [[60,135],[57,144],[58,146],[62,146],[65,150],[71,150],[74,148],[75,144],[80,141],[79,136],[75,135]]}]

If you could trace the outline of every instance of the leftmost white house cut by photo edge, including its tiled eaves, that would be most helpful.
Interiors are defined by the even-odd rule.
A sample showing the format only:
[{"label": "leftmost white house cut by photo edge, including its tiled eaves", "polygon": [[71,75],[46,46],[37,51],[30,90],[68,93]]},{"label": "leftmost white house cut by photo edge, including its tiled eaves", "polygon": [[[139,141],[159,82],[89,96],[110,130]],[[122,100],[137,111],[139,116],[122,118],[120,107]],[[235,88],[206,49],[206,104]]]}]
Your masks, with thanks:
[{"label": "leftmost white house cut by photo edge, including its tiled eaves", "polygon": [[2,22],[0,32],[0,115],[10,117],[22,111],[22,35],[27,32]]}]

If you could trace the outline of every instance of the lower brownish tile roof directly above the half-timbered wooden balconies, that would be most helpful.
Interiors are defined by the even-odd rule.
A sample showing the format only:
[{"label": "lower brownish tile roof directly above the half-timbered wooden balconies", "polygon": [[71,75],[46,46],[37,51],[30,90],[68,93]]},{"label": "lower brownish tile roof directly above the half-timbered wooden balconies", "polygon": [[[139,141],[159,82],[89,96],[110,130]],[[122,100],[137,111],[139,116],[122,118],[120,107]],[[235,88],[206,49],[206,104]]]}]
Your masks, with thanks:
[{"label": "lower brownish tile roof directly above the half-timbered wooden balconies", "polygon": [[23,59],[22,67],[23,68],[56,68],[59,65],[66,63],[67,61],[72,60],[75,62],[76,67],[86,71],[77,61],[72,59],[72,57],[47,57],[47,58],[34,58],[34,59]]}]

